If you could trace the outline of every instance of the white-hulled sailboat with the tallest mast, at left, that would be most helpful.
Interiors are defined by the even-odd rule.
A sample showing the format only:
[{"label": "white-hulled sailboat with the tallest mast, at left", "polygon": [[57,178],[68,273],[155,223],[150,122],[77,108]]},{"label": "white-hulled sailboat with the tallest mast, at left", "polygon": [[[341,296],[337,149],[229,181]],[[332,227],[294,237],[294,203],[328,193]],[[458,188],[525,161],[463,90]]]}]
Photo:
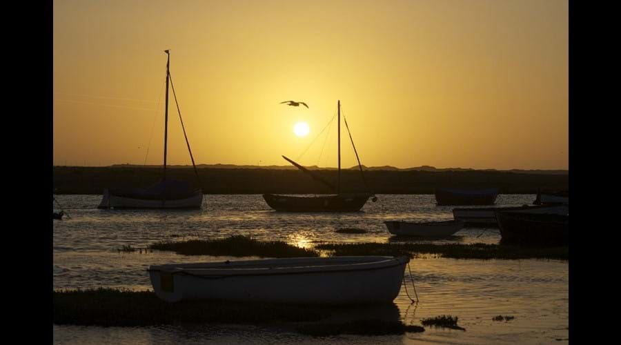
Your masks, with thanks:
[{"label": "white-hulled sailboat with the tallest mast, at left", "polygon": [[[170,76],[170,50],[164,50],[168,55],[166,61],[166,108],[164,119],[164,173],[161,181],[148,188],[107,188],[103,190],[103,198],[98,208],[201,208],[203,202],[203,191],[191,188],[186,181],[177,181],[174,179],[166,179],[166,153],[168,144],[168,84],[172,87],[172,95],[177,103],[177,95],[175,95],[175,86],[172,85],[172,77]],[[192,166],[200,185],[200,179],[194,164],[192,150],[190,150],[190,142],[186,135],[184,121],[181,119],[179,111],[179,119],[181,120],[181,128],[184,129],[186,144],[192,159]]]}]

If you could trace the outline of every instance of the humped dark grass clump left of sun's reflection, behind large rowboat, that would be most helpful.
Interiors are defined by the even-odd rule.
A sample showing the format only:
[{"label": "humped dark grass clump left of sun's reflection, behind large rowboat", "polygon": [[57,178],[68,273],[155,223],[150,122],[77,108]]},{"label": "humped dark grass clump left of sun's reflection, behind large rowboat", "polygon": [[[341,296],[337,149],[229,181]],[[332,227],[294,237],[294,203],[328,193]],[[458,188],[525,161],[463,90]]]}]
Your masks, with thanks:
[{"label": "humped dark grass clump left of sun's reflection, behind large rowboat", "polygon": [[182,255],[213,255],[233,257],[317,257],[312,249],[299,248],[286,242],[260,242],[246,236],[225,239],[193,239],[184,242],[158,242],[149,246],[156,250],[170,250]]}]

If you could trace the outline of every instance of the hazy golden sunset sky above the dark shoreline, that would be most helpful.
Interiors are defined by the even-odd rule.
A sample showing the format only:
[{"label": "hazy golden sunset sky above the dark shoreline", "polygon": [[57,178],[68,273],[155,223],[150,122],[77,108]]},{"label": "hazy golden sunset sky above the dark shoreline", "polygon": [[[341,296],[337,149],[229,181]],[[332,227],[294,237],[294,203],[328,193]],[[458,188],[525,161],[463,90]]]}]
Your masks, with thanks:
[{"label": "hazy golden sunset sky above the dark shoreline", "polygon": [[[340,99],[366,166],[569,168],[566,0],[53,7],[55,165],[162,164],[170,49],[197,164],[334,167]],[[168,164],[191,164],[172,90],[168,115]]]}]

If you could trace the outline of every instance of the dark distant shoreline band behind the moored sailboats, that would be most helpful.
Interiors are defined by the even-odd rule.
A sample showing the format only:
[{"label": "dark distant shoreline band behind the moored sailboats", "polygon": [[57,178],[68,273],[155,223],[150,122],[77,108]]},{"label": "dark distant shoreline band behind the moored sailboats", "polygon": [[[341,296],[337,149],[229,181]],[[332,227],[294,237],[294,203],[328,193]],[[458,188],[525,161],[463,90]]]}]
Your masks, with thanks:
[{"label": "dark distant shoreline band behind the moored sailboats", "polygon": [[[333,191],[297,170],[282,168],[177,167],[167,178],[188,181],[204,194],[331,194]],[[336,170],[314,170],[328,181],[337,181]],[[105,188],[146,187],[161,179],[161,167],[54,166],[53,193],[101,195]],[[569,190],[569,174],[520,173],[489,170],[365,170],[369,189],[376,194],[433,194],[435,188],[500,188],[501,194],[535,194],[542,190]],[[342,191],[366,190],[360,172],[342,170]]]}]

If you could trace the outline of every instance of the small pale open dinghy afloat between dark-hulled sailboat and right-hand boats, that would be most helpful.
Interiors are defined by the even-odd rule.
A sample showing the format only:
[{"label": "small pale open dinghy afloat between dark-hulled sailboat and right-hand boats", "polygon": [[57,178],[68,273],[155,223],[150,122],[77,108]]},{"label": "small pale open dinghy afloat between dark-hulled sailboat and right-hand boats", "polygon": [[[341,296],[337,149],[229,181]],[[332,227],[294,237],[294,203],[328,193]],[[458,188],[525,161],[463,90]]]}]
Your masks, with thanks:
[{"label": "small pale open dinghy afloat between dark-hulled sailboat and right-hand boats", "polygon": [[420,236],[420,237],[446,237],[462,230],[464,223],[457,220],[447,221],[384,221],[386,228],[393,235]]}]

